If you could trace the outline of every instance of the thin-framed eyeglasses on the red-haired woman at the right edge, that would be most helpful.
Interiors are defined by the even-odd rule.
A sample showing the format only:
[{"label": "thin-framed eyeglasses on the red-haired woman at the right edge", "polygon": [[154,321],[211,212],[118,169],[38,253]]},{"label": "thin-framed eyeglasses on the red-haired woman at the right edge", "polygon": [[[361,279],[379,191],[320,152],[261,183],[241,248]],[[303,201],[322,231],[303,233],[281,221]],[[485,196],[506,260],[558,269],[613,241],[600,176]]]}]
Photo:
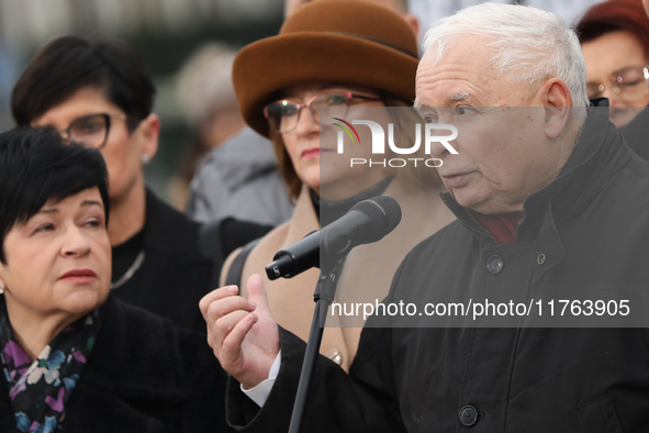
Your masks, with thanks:
[{"label": "thin-framed eyeglasses on the red-haired woman at the right edge", "polygon": [[649,66],[630,66],[613,74],[608,84],[586,82],[589,99],[598,98],[609,87],[619,99],[634,102],[649,93]]}]

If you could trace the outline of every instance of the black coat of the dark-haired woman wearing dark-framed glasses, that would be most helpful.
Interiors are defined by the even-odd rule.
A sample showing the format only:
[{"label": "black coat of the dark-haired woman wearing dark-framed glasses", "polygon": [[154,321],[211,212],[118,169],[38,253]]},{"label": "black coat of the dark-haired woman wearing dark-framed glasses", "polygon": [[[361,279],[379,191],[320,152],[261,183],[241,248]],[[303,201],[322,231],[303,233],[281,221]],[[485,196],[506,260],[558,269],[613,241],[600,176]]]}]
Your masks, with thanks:
[{"label": "black coat of the dark-haired woman wearing dark-framed glasses", "polygon": [[199,301],[217,287],[224,258],[271,229],[235,220],[230,220],[226,227],[226,233],[217,231],[211,241],[219,244],[217,248],[201,249],[201,224],[147,190],[143,241],[146,256],[133,277],[114,290],[115,296],[171,320],[178,327],[205,333]]}]

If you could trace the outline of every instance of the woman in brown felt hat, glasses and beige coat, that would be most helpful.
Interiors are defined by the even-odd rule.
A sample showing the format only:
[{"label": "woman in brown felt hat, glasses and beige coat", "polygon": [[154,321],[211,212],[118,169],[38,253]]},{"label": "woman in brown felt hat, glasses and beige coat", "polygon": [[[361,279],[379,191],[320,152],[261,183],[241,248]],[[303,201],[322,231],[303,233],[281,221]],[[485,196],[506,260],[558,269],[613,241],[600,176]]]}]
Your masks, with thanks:
[{"label": "woman in brown felt hat, glasses and beige coat", "polygon": [[[265,266],[282,247],[342,216],[357,201],[387,195],[401,204],[400,226],[379,243],[355,248],[345,263],[337,289],[340,302],[358,300],[363,287],[371,288],[372,299],[380,302],[410,249],[452,221],[438,197],[443,186],[434,168],[424,169],[423,175],[388,165],[339,169],[342,160],[336,159],[339,155],[335,144],[327,141],[321,147],[320,109],[331,107],[345,112],[347,108],[411,107],[415,97],[416,53],[415,35],[398,13],[367,1],[348,0],[309,3],[284,22],[278,36],[239,52],[233,80],[242,114],[248,125],[273,142],[295,211],[290,221],[246,252],[245,258],[239,251],[234,252],[224,266],[223,284],[238,285],[253,274],[265,275]],[[322,121],[323,125],[332,123]],[[393,123],[399,125],[400,120]],[[369,135],[368,127],[357,129],[362,143],[365,130]],[[369,144],[347,148],[371,156]],[[344,160],[349,164],[348,158]],[[369,264],[372,266],[368,267]],[[309,336],[317,277],[318,269],[291,279],[270,281],[264,277],[273,318],[303,340]],[[240,286],[243,289],[244,285]],[[327,323],[338,327],[325,330],[321,352],[348,370],[357,351],[362,317],[329,319]]]}]

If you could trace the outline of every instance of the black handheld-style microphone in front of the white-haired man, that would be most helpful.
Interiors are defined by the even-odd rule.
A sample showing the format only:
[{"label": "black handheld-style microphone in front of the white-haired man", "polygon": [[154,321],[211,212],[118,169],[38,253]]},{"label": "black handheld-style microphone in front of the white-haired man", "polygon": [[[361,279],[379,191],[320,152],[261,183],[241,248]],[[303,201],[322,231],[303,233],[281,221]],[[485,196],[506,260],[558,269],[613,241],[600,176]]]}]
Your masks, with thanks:
[{"label": "black handheld-style microphone in front of the white-haired man", "polygon": [[321,263],[334,264],[355,246],[382,240],[400,221],[401,208],[391,197],[359,201],[329,225],[279,251],[275,262],[266,266],[266,275],[271,280],[291,278],[312,267],[320,268]]}]

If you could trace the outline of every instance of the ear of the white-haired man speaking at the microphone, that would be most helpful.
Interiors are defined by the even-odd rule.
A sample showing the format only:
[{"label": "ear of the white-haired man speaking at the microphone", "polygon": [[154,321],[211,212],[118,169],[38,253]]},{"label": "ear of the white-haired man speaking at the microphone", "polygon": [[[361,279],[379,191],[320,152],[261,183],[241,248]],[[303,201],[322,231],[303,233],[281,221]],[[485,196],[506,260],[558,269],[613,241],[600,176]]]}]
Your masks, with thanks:
[{"label": "ear of the white-haired man speaking at the microphone", "polygon": [[539,97],[546,110],[546,135],[550,140],[556,140],[563,133],[570,120],[572,95],[566,81],[552,78],[540,88]]}]

